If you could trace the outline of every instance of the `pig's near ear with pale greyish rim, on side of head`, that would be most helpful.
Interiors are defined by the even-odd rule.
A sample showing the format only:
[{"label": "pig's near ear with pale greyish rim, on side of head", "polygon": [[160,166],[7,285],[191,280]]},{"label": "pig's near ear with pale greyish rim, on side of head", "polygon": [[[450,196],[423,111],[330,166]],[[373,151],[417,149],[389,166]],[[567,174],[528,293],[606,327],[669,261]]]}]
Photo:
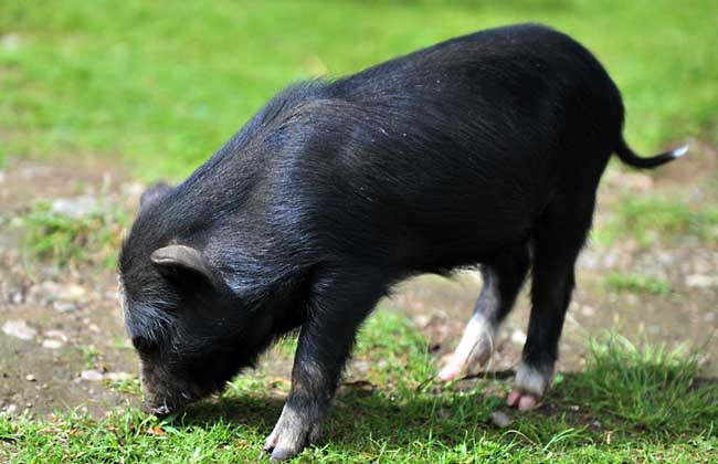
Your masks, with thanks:
[{"label": "pig's near ear with pale greyish rim, on side of head", "polygon": [[155,250],[150,256],[152,264],[167,280],[188,289],[208,285],[219,288],[220,280],[212,271],[202,253],[191,246],[169,245]]}]

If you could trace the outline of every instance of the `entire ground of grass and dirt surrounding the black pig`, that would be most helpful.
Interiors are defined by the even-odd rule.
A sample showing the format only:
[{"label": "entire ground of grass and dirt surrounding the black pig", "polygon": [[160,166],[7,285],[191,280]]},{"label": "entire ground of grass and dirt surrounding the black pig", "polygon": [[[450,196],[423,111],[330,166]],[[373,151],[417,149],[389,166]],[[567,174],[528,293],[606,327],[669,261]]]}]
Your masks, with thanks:
[{"label": "entire ground of grass and dirt surrounding the black pig", "polygon": [[187,414],[138,410],[115,256],[144,186],[181,179],[288,82],[531,20],[606,64],[638,151],[689,154],[648,172],[609,167],[536,411],[504,404],[528,289],[488,366],[444,384],[434,376],[481,276],[420,276],[363,327],[324,439],[297,461],[718,462],[712,3],[3,3],[0,461],[254,462],[288,391],[291,339]]}]

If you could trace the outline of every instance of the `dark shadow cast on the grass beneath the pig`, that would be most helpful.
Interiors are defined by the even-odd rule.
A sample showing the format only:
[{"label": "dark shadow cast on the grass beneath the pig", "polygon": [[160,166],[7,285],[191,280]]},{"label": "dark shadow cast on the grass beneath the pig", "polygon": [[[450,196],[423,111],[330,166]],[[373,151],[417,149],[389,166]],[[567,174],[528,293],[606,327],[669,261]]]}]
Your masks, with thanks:
[{"label": "dark shadow cast on the grass beneath the pig", "polygon": [[[629,443],[673,445],[694,439],[714,439],[718,424],[718,379],[696,378],[688,391],[671,390],[671,372],[655,367],[666,388],[636,391],[592,387],[595,372],[568,372],[558,377],[542,404],[519,413],[504,403],[513,371],[485,372],[454,386],[427,384],[422,391],[341,388],[324,426],[320,444],[363,451],[400,449],[416,443],[442,447],[495,443],[526,450],[611,447]],[[642,367],[645,373],[646,367]],[[636,373],[638,376],[638,373]],[[641,377],[641,376],[638,376]],[[499,379],[501,381],[499,381]],[[663,404],[656,402],[663,401]],[[183,416],[184,425],[211,426],[217,421],[239,425],[251,435],[272,431],[284,398],[226,394],[202,403]],[[510,423],[499,426],[493,414],[505,413]],[[258,445],[258,443],[257,443]]]}]

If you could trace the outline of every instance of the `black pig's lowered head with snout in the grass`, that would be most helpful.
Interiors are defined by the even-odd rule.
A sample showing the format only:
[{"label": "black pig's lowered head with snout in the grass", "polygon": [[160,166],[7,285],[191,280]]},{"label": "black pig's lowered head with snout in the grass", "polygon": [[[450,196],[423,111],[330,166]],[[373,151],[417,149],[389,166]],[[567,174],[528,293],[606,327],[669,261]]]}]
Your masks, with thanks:
[{"label": "black pig's lowered head with snout in the grass", "polygon": [[167,228],[155,218],[156,207],[142,207],[118,264],[144,409],[167,414],[222,390],[274,335],[268,312],[232,291],[217,260],[181,240],[158,245],[166,239],[157,231]]}]

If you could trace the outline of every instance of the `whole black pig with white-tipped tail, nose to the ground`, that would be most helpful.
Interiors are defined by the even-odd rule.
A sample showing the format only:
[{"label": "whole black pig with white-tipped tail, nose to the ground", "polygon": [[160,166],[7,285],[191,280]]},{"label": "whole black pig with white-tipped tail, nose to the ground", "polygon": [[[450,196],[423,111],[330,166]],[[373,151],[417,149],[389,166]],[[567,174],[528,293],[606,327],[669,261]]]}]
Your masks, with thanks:
[{"label": "whole black pig with white-tipped tail, nose to the ground", "polygon": [[453,39],[358,74],[294,85],[177,187],[147,196],[119,256],[146,405],[219,391],[300,327],[273,460],[313,443],[355,334],[397,282],[481,264],[484,289],[440,377],[486,360],[532,266],[510,405],[549,386],[573,267],[622,136],[615,84],[535,24]]}]

